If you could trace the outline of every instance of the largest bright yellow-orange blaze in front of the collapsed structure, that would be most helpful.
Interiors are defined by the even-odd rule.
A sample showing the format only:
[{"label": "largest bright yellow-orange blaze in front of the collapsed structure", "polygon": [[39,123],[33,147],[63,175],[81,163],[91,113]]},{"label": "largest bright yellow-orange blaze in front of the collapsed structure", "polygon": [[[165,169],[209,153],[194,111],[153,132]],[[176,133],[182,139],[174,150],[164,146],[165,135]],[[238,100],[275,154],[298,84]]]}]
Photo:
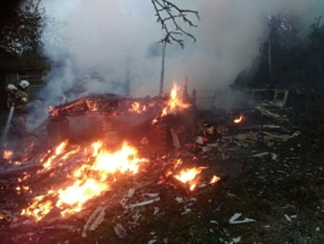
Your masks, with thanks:
[{"label": "largest bright yellow-orange blaze in front of the collapsed structure", "polygon": [[[147,162],[147,159],[139,158],[136,148],[126,142],[115,152],[106,151],[102,145],[101,141],[91,145],[92,159],[87,159],[86,163],[74,170],[70,175],[72,183],[65,188],[51,190],[47,195],[35,197],[34,202],[22,211],[22,215],[30,215],[39,221],[55,207],[60,209],[60,214],[63,216],[79,212],[87,201],[111,190],[111,183],[117,177],[115,173],[136,174],[140,164]],[[65,146],[65,142],[60,144],[55,152],[62,153]],[[56,153],[51,160],[57,160],[55,156],[59,154]],[[47,163],[48,161],[44,164]],[[113,179],[108,178],[109,175],[112,175]]]}]

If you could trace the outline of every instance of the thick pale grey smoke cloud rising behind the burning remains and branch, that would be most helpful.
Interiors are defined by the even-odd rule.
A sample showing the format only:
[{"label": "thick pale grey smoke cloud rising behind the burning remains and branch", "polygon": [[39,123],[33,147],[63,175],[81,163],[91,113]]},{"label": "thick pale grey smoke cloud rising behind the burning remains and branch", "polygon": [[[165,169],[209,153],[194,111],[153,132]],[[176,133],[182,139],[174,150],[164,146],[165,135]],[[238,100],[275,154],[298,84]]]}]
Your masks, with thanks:
[{"label": "thick pale grey smoke cloud rising behind the burning remains and branch", "polygon": [[[268,38],[268,15],[293,15],[300,31],[305,31],[324,12],[323,0],[172,2],[197,10],[200,20],[188,15],[197,28],[181,24],[195,36],[195,43],[183,36],[184,49],[177,43],[166,47],[165,93],[172,82],[181,83],[184,75],[188,75],[189,91],[227,90],[238,73],[252,65]],[[165,33],[156,22],[151,1],[45,0],[42,7],[60,23],[45,31],[40,50],[52,63],[40,94],[43,105],[90,93],[123,95],[127,79],[133,97],[159,93],[163,46],[158,42]],[[236,101],[236,96],[225,97],[220,104]]]}]

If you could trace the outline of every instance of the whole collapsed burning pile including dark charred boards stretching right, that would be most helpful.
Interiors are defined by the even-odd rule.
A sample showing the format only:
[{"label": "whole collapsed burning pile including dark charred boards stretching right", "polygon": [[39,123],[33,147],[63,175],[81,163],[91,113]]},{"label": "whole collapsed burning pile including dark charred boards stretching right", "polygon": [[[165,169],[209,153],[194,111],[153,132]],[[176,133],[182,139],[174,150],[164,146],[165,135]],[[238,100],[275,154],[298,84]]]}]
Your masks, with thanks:
[{"label": "whole collapsed burning pile including dark charred boards stretching right", "polygon": [[[115,234],[124,238],[145,206],[161,214],[159,202],[172,195],[188,213],[193,196],[225,180],[229,170],[242,172],[248,146],[261,140],[264,150],[297,135],[269,132],[273,126],[264,116],[282,116],[264,107],[197,116],[194,98],[181,99],[179,89],[174,84],[165,98],[107,95],[52,107],[46,150],[35,150],[33,140],[27,147],[33,150],[24,153],[3,148],[3,233],[24,227],[33,236],[41,227],[86,237],[109,215]],[[259,117],[252,118],[255,113]],[[261,125],[246,125],[252,119]],[[249,157],[264,155],[268,151]]]}]

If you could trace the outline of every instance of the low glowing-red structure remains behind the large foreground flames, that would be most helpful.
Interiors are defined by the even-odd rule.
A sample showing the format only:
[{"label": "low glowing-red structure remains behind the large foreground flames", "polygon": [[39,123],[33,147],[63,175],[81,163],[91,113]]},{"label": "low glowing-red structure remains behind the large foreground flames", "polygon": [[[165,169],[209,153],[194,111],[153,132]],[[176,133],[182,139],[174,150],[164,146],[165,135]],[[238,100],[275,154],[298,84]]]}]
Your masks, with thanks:
[{"label": "low glowing-red structure remains behind the large foreground flames", "polygon": [[[179,118],[172,118],[179,117],[179,114],[181,117],[185,109],[194,107],[189,100],[187,103],[182,102],[179,89],[180,87],[174,84],[170,97],[164,98],[122,98],[105,94],[79,98],[64,105],[51,107],[47,121],[49,140],[51,144],[58,144],[69,137],[77,140],[104,139],[106,145],[111,145],[125,139],[140,140],[150,134],[151,130],[159,130],[160,133],[156,132],[157,136],[165,128],[169,130],[176,126]],[[192,114],[189,122],[191,125],[194,119]],[[188,126],[186,130],[189,130]]]}]

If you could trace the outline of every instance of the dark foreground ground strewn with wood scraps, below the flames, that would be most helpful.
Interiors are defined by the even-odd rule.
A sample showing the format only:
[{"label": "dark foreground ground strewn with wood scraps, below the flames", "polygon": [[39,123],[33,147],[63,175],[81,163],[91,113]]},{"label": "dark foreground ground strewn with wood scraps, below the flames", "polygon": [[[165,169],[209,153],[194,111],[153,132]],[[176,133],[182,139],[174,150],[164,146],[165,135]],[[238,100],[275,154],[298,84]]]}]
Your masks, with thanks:
[{"label": "dark foreground ground strewn with wood scraps, below the flames", "polygon": [[[268,132],[271,144],[248,131],[200,150],[172,152],[188,165],[208,167],[206,178],[220,176],[193,191],[147,176],[124,181],[119,192],[101,195],[90,201],[95,207],[70,218],[14,227],[10,211],[24,202],[10,209],[3,200],[0,238],[3,243],[324,243],[324,123],[313,121],[298,114],[295,130]],[[6,178],[0,184],[1,199],[10,198]],[[98,224],[86,228],[90,218]]]}]

